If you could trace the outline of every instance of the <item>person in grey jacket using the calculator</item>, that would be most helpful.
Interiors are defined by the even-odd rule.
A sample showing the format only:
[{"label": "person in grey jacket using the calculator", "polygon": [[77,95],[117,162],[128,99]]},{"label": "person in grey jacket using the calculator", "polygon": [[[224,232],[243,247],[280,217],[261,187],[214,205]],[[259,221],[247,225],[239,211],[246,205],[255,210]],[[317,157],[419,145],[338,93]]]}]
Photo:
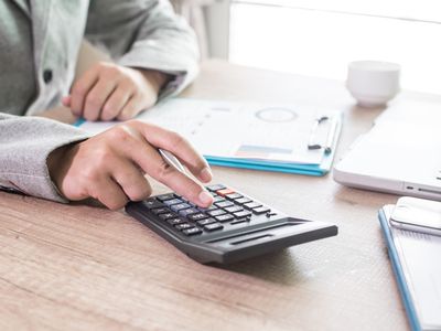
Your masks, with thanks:
[{"label": "person in grey jacket using the calculator", "polygon": [[[116,64],[99,63],[73,85],[83,38]],[[6,0],[0,2],[0,185],[66,202],[87,197],[109,209],[151,194],[144,173],[201,206],[213,199],[160,157],[174,153],[201,181],[206,161],[179,135],[130,120],[89,138],[36,117],[63,102],[89,120],[127,120],[195,76],[189,26],[161,0]],[[14,116],[15,115],[15,116]]]}]

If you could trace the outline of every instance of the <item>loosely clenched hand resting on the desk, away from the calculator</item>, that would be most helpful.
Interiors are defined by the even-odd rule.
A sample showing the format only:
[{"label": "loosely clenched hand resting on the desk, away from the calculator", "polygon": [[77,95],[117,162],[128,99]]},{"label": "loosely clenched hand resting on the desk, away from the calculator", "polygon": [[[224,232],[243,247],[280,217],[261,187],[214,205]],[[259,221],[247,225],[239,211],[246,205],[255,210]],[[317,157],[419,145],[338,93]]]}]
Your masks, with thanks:
[{"label": "loosely clenched hand resting on the desk, away from the calculator", "polygon": [[157,71],[99,62],[75,82],[63,105],[87,120],[127,120],[153,106],[169,79]]}]

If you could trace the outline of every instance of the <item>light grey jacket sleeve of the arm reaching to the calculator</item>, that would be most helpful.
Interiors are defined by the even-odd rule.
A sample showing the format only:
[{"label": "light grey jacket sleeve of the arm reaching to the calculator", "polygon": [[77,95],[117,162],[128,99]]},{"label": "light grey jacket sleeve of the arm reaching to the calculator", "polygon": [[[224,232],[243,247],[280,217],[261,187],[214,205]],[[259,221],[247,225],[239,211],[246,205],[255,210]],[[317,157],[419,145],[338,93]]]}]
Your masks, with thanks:
[{"label": "light grey jacket sleeve of the arm reaching to the calculator", "polygon": [[55,149],[87,138],[54,120],[0,114],[0,185],[65,202],[51,180],[47,158]]}]

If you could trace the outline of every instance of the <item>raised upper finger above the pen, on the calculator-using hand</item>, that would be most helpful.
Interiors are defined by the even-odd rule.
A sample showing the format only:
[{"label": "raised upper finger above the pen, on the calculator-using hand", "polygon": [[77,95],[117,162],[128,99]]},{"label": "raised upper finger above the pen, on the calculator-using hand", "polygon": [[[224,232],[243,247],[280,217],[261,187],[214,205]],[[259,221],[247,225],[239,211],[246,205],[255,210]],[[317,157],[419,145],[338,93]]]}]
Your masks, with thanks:
[{"label": "raised upper finger above the pen, on the calculator-using hand", "polygon": [[207,161],[185,138],[152,124],[139,121],[133,124],[149,143],[172,152],[197,179],[205,183],[212,180],[213,174]]}]

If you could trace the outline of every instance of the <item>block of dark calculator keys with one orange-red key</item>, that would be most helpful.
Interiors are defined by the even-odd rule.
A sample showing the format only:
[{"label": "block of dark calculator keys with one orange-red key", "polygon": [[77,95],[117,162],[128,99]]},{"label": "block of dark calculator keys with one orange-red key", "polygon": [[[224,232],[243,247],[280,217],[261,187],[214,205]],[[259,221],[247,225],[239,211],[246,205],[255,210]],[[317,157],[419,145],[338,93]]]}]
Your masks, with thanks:
[{"label": "block of dark calculator keys with one orange-red key", "polygon": [[258,201],[236,192],[222,184],[206,188],[214,197],[207,209],[197,207],[184,197],[174,194],[161,194],[143,201],[143,205],[160,222],[185,236],[212,234],[239,226],[270,220],[278,215]]}]

